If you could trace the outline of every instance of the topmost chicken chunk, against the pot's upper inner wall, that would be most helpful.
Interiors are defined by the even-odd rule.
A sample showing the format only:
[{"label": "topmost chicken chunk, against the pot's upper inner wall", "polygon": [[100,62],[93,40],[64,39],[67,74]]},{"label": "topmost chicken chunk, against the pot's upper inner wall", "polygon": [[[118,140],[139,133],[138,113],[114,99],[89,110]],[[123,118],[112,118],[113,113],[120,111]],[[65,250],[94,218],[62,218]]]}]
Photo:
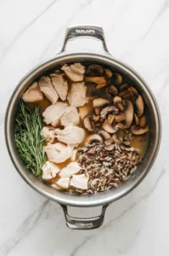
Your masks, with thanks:
[{"label": "topmost chicken chunk, against the pot's upper inner wall", "polygon": [[61,67],[65,71],[66,76],[73,82],[80,82],[83,80],[83,74],[85,73],[85,67],[81,63],[75,63],[70,66],[65,64]]}]

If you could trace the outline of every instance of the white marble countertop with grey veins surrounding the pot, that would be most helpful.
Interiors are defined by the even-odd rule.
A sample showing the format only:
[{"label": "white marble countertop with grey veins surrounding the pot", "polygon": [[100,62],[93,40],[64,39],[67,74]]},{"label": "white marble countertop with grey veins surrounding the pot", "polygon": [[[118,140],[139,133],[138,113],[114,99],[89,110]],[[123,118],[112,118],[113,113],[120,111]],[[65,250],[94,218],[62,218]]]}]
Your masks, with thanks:
[{"label": "white marble countertop with grey veins surrounding the pot", "polygon": [[[167,0],[0,0],[1,256],[169,255],[168,6]],[[65,226],[57,203],[38,195],[15,171],[3,121],[8,99],[25,73],[59,51],[67,26],[86,23],[103,26],[110,53],[148,82],[161,109],[163,136],[144,182],[110,205],[99,230],[77,231]],[[69,47],[102,48],[88,39]],[[83,211],[71,209],[78,216]]]}]

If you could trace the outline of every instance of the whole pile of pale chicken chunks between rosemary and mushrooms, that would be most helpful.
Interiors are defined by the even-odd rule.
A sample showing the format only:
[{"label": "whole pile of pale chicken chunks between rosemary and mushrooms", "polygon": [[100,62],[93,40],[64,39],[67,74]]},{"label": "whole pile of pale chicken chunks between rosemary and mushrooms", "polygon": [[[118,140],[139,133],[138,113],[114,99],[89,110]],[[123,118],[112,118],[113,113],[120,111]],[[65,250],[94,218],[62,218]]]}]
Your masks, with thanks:
[{"label": "whole pile of pale chicken chunks between rosemary and mushrooms", "polygon": [[[64,73],[61,73],[64,71]],[[76,147],[85,137],[85,131],[77,126],[80,122],[78,109],[87,103],[87,87],[83,82],[85,67],[80,63],[61,67],[61,71],[43,76],[32,84],[23,95],[25,102],[39,102],[46,96],[51,105],[42,113],[46,126],[42,129],[42,136],[47,145],[44,147],[48,161],[42,166],[42,179],[51,180],[57,175],[56,184],[63,189],[73,186],[87,189],[88,178],[76,175],[81,167],[76,160]],[[70,81],[70,89],[68,80]],[[61,100],[61,101],[60,101]],[[69,102],[69,104],[68,104]],[[64,129],[56,128],[58,126]],[[60,170],[57,164],[72,160],[70,164]]]}]

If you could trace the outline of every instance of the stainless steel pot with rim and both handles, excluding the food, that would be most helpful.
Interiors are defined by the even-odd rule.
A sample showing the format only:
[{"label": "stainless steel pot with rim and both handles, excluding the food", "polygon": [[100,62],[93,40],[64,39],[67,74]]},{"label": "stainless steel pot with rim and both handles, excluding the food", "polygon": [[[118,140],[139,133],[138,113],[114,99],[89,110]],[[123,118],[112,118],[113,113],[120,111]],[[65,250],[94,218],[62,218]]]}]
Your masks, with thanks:
[{"label": "stainless steel pot with rim and both handles, excluding the food", "polygon": [[[82,51],[82,52],[66,52],[65,45],[71,38],[89,36],[93,38],[99,38],[104,46],[104,54],[93,51]],[[115,70],[116,72],[122,73],[137,90],[144,96],[144,102],[148,107],[149,111],[149,145],[145,152],[143,163],[138,166],[137,172],[132,174],[132,177],[123,183],[117,189],[105,191],[96,195],[71,195],[68,193],[61,192],[53,189],[42,183],[28,172],[20,160],[20,156],[17,153],[14,144],[14,114],[17,106],[20,102],[20,97],[24,91],[30,86],[35,80],[40,78],[44,73],[47,73],[53,68],[59,67],[69,62],[97,62],[104,64],[107,67]],[[14,163],[16,170],[20,173],[26,183],[28,183],[32,189],[37,190],[40,194],[48,197],[50,200],[58,202],[64,209],[65,220],[68,227],[72,229],[94,229],[98,228],[104,221],[104,213],[109,204],[122,196],[127,195],[132,189],[134,189],[138,183],[140,183],[149,172],[151,166],[155,161],[156,154],[161,141],[161,120],[160,114],[155,102],[155,98],[152,92],[149,90],[148,85],[145,83],[131,67],[121,63],[121,61],[115,60],[109,53],[105,40],[104,32],[99,26],[73,26],[67,29],[65,35],[65,41],[63,48],[59,55],[56,55],[53,60],[43,63],[41,66],[35,68],[31,73],[27,74],[24,79],[20,81],[20,84],[14,90],[13,95],[8,103],[6,119],[5,119],[5,137],[8,147],[8,153],[11,160]],[[67,207],[97,207],[102,206],[102,213],[98,217],[94,218],[73,218],[70,217],[67,212]]]}]

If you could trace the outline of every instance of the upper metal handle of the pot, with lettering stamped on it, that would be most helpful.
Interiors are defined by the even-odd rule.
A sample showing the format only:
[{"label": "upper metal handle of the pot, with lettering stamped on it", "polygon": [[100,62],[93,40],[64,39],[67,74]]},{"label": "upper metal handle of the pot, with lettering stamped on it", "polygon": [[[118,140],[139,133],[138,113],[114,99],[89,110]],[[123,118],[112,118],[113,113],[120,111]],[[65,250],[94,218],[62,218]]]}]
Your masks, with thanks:
[{"label": "upper metal handle of the pot, with lettering stamped on it", "polygon": [[107,46],[105,44],[103,28],[100,26],[70,26],[70,27],[68,27],[65,32],[65,40],[64,40],[64,44],[61,49],[61,52],[65,51],[65,46],[70,39],[77,38],[77,37],[98,38],[99,40],[102,41],[104,50],[108,54],[110,54],[109,50],[107,49]]}]

